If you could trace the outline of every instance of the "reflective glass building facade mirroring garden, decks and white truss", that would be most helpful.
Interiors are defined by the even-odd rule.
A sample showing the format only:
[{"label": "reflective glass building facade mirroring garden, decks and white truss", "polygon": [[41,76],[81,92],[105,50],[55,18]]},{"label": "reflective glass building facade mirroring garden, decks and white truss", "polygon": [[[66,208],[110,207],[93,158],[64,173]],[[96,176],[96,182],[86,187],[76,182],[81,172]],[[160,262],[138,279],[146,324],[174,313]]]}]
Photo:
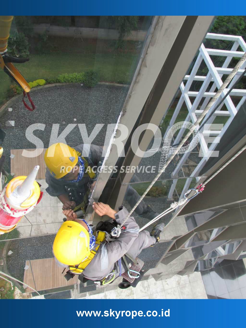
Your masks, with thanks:
[{"label": "reflective glass building facade mirroring garden, decks and white truss", "polygon": [[[133,92],[133,87],[141,81],[142,75],[135,74],[140,72],[140,64],[147,58],[147,41],[150,41],[148,38],[156,19],[155,16],[130,17],[130,30],[123,36],[118,33],[119,21],[112,16],[35,16],[29,20],[26,16],[16,16],[13,20],[9,49],[12,49],[13,36],[20,40],[26,37],[26,54],[29,52],[30,60],[16,64],[16,67],[31,82],[31,99],[36,108],[30,112],[24,107],[22,90],[1,70],[0,102],[4,105],[9,101],[0,116],[6,133],[2,142],[5,155],[2,172],[9,181],[14,174],[27,175],[38,164],[37,182],[44,193],[41,202],[24,215],[16,229],[0,235],[0,270],[23,281],[24,288],[21,284],[17,286],[23,293],[37,295],[26,284],[38,290],[44,298],[87,297],[88,293],[92,296],[106,290],[90,280],[80,281],[76,276],[67,281],[63,268],[56,266],[52,243],[63,222],[62,203],[46,191],[44,152],[40,151],[32,159],[24,156],[23,150],[31,154],[36,148],[47,149],[59,137],[59,141],[63,139],[72,147],[87,143],[96,145],[103,151],[98,166],[113,153],[115,155],[114,128],[127,111],[135,111],[127,105],[131,97],[139,97]],[[183,22],[180,26],[184,30]],[[118,157],[117,170],[105,181],[106,175],[99,172],[99,183],[94,189],[89,183],[88,193],[91,188],[92,195],[102,194],[98,197],[100,201],[112,206],[116,204],[115,207],[123,204],[129,212],[133,209],[246,51],[246,39],[241,37],[242,33],[218,36],[222,33],[221,26],[221,18],[215,17],[201,46],[196,49],[195,57],[191,58],[185,76],[183,79],[179,77],[179,88],[172,90],[173,100],[166,107],[161,107],[162,70],[157,72],[146,95],[146,103],[124,140],[126,157],[115,155]],[[177,33],[173,44],[178,37]],[[171,50],[173,44],[168,46]],[[157,57],[157,50],[153,52],[152,62]],[[13,49],[12,54],[16,55]],[[246,63],[241,69],[245,67]],[[212,113],[215,103],[200,122],[197,142],[194,143],[192,137],[188,139],[135,209],[133,216],[140,228],[167,210],[174,201],[183,198],[188,189],[206,180],[208,171],[213,170],[245,137],[246,78],[239,81],[239,73],[228,86],[229,89],[234,85],[234,90]],[[167,73],[167,80],[172,74],[174,72]],[[158,93],[160,100],[148,113],[147,106]],[[131,144],[130,139],[137,128],[146,122],[154,122],[157,130],[147,137],[143,130],[139,140]],[[138,148],[141,138],[145,142],[142,144],[144,157],[133,154],[133,148]],[[220,234],[229,226],[235,222],[241,224],[242,218],[244,220],[244,205],[245,201],[210,209],[208,204],[207,210],[184,216],[176,216],[177,211],[173,211],[163,216],[160,222],[165,223],[165,229],[160,235],[161,242],[140,254],[145,262],[146,279],[151,270],[155,270],[152,277],[156,281],[165,280],[169,275],[182,276],[199,271],[204,271],[203,277],[208,277],[208,270],[211,270],[212,277],[216,270],[222,270],[222,260],[229,260],[232,256],[235,260],[244,258],[243,238],[238,240],[235,234],[219,240]],[[240,217],[235,215],[235,221],[228,219],[216,226],[215,220],[220,215],[229,214],[232,209],[237,214],[240,212]],[[92,212],[92,207],[88,206],[87,214],[92,215]],[[93,223],[98,219],[95,215]],[[153,225],[146,228],[149,232],[152,229]],[[223,275],[226,280],[226,274]],[[110,288],[116,289],[117,283]],[[222,294],[211,295],[218,297]]]}]

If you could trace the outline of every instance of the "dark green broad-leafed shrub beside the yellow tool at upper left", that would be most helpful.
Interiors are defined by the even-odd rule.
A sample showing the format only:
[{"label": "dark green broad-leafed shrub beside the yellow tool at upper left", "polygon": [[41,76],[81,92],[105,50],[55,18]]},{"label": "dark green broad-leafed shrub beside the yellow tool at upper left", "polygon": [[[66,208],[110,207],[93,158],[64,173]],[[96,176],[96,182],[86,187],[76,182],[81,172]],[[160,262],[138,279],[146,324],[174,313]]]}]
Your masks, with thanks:
[{"label": "dark green broad-leafed shrub beside the yellow tool at upper left", "polygon": [[8,40],[8,53],[16,57],[27,57],[29,55],[29,43],[28,38],[24,33],[18,33],[15,31],[10,35]]}]

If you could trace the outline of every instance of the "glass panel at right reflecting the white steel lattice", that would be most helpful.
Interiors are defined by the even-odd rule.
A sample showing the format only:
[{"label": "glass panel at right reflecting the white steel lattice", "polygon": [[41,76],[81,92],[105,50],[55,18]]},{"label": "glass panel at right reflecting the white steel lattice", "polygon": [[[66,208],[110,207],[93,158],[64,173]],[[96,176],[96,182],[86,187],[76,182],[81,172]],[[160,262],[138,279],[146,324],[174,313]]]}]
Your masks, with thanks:
[{"label": "glass panel at right reflecting the white steel lattice", "polygon": [[[213,31],[213,33],[219,33],[220,29],[222,31],[222,26],[217,25],[217,22],[220,22],[221,19],[221,17],[216,17],[214,24],[208,32]],[[228,26],[229,24],[231,24],[230,26],[236,24],[232,16],[228,16],[228,18],[224,19],[228,20]],[[221,37],[221,39],[217,40],[213,38],[213,35],[207,35],[204,38],[202,47],[197,51],[184,80],[180,81],[180,87],[175,93],[173,102],[170,104],[168,110],[165,108],[163,109],[163,118],[159,125],[162,135],[159,149],[152,149],[153,139],[147,150],[153,155],[148,158],[143,158],[139,166],[152,165],[153,167],[159,167],[164,140],[167,137],[169,129],[176,124],[176,128],[173,130],[170,139],[166,139],[165,141],[165,145],[173,147],[172,151],[174,151],[183,136],[189,131],[187,126],[181,123],[179,124],[179,122],[186,121],[195,123],[210,99],[215,92],[217,92],[221,80],[223,82],[228,76],[228,74],[225,73],[226,69],[235,67],[238,62],[238,58],[230,56],[230,51],[246,51],[246,42],[245,40],[241,40],[241,34],[242,31],[238,31],[238,39],[236,39],[236,41],[235,37],[231,39],[229,37],[228,40],[224,40],[224,37]],[[216,50],[228,51],[228,55],[222,56],[221,53]],[[208,58],[210,58],[211,61]],[[217,73],[219,73],[219,76]],[[234,78],[232,83],[236,82],[238,78],[239,75]],[[245,135],[246,129],[243,126],[243,122],[245,121],[246,112],[243,92],[246,90],[246,77],[243,77],[240,83],[236,83],[235,88],[236,87],[242,90],[242,94],[230,94],[230,97],[228,97],[227,100],[218,107],[217,111],[213,113],[211,118],[208,119],[206,123],[207,126],[202,127],[199,131],[199,142],[189,152],[183,153],[184,147],[182,147],[181,153],[174,157],[165,172],[160,176],[160,180],[172,177],[190,177],[191,179],[197,177],[198,181],[199,176],[202,175],[206,177],[207,170]],[[213,108],[214,107],[215,106],[213,106]],[[213,110],[213,108],[211,108],[211,110]],[[208,115],[200,124],[202,124],[205,119],[207,120],[207,118]],[[220,137],[220,142],[218,144],[216,143],[218,140],[215,140],[217,136]],[[191,139],[192,137],[189,138],[188,144],[190,144]],[[215,153],[215,151],[217,153]],[[169,155],[171,155],[171,151]],[[162,157],[164,158],[165,156]],[[141,181],[147,180],[147,174],[145,173],[140,172],[135,175]],[[156,174],[149,174],[151,178],[154,178],[155,175]],[[185,185],[183,187],[183,192],[188,190],[188,188],[189,186]]]}]

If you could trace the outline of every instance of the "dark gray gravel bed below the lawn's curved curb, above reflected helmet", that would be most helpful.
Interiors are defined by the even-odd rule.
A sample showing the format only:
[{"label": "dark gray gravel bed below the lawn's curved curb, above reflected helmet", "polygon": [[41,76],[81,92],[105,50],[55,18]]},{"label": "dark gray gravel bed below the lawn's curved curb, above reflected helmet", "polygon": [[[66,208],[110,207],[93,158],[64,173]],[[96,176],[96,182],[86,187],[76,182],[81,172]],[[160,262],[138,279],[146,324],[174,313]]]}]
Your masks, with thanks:
[{"label": "dark gray gravel bed below the lawn's curved curb, above reflected helmet", "polygon": [[[45,148],[49,146],[52,124],[60,124],[59,134],[68,124],[85,124],[90,135],[95,125],[101,123],[104,126],[93,143],[103,146],[107,124],[116,123],[126,94],[125,87],[102,85],[95,88],[45,90],[31,96],[36,106],[33,112],[24,107],[22,100],[17,101],[12,106],[12,112],[7,111],[0,117],[0,123],[6,132],[3,143],[6,169],[10,170],[10,149],[36,148],[25,135],[26,129],[34,123],[46,125],[44,131],[34,131],[34,135],[43,141]],[[8,120],[14,120],[15,126],[6,127],[5,122]],[[78,126],[68,134],[66,141],[72,146],[83,143]]]}]

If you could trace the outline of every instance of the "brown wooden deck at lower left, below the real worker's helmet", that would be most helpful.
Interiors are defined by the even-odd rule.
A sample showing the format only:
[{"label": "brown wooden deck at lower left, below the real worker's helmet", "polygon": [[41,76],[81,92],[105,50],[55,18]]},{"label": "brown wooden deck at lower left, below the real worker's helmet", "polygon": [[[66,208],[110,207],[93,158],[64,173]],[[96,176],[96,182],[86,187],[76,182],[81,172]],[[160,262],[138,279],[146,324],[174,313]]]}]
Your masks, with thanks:
[{"label": "brown wooden deck at lower left, below the real worker's helmet", "polygon": [[[64,268],[58,267],[58,265],[56,265],[54,257],[31,261],[28,260],[26,261],[26,265],[28,265],[30,268],[28,270],[25,270],[24,284],[31,286],[37,291],[70,286],[77,283],[78,276],[76,275],[69,281],[64,278],[66,270],[62,274]],[[25,292],[29,293],[33,292],[33,290],[27,287],[25,289]]]}]

